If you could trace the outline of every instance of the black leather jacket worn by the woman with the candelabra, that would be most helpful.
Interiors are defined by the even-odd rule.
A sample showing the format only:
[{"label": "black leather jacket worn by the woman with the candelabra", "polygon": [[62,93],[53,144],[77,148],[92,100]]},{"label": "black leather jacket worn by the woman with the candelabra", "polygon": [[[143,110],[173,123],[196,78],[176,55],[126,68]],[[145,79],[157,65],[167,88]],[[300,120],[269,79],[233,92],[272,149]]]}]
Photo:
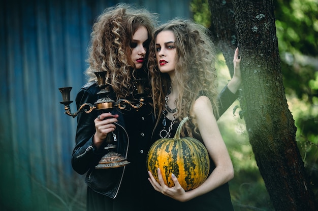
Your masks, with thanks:
[{"label": "black leather jacket worn by the woman with the candelabra", "polygon": [[[97,93],[99,91],[100,89],[97,87],[96,82],[92,81],[92,82],[86,83],[86,85],[84,85],[77,94],[77,97],[76,97],[77,109],[79,109],[79,107],[82,104],[87,102],[94,104],[94,102],[97,101],[97,97],[98,97]],[[114,95],[111,96],[111,98],[113,100],[116,99]],[[221,105],[219,107],[219,114],[221,115],[222,113],[224,113],[227,110],[227,108],[236,100],[236,98],[237,98],[237,95],[231,93],[226,86],[219,95],[219,102]],[[138,134],[136,134],[136,127],[138,125],[131,125],[135,122],[134,120],[131,120],[130,122],[126,122],[127,124],[131,125],[130,130],[126,130],[123,114],[117,109],[113,109],[111,113],[119,115],[118,122],[116,122],[116,130],[113,133],[113,137],[115,137],[117,140],[116,152],[123,155],[125,158],[127,158],[128,150],[130,147],[130,138],[132,136],[132,133],[135,133],[133,137],[138,136]],[[108,169],[95,169],[94,166],[98,164],[102,156],[104,156],[105,154],[105,151],[103,151],[103,149],[97,150],[92,144],[92,137],[94,133],[96,132],[95,126],[94,126],[94,119],[97,117],[97,115],[98,113],[96,110],[93,110],[90,113],[82,112],[77,115],[76,145],[72,154],[72,167],[78,174],[82,175],[87,172],[85,182],[92,190],[100,194],[106,195],[108,197],[115,198],[118,194],[119,187],[123,181],[123,175],[124,175],[126,166],[117,167],[117,168],[108,168]],[[135,117],[137,117],[138,115],[139,115],[138,113],[134,114]],[[150,114],[150,116],[152,115]],[[144,119],[143,116],[142,118]],[[149,119],[151,117],[146,117],[146,118]],[[149,129],[153,128],[153,125],[151,124],[151,122],[154,122],[154,119],[150,121],[148,120],[148,123],[146,123],[148,127],[146,130],[149,131],[149,133],[150,133]],[[142,136],[144,136],[143,133],[142,133]],[[150,137],[149,138],[148,137],[143,137],[143,138],[150,140]],[[140,138],[137,138],[137,139],[140,139]],[[140,141],[141,140],[138,140],[138,142]],[[134,147],[136,148],[135,145]],[[147,150],[147,147],[145,147],[144,149]],[[134,150],[137,150],[137,149],[134,149]],[[138,150],[142,151],[140,149]],[[137,159],[136,154],[133,154],[131,158],[133,160]],[[145,154],[141,155],[139,159],[145,160]],[[135,164],[136,162],[138,162],[138,160],[135,160]],[[135,167],[134,163],[130,167],[134,168],[133,166]],[[141,180],[143,179],[144,178],[142,178]]]}]

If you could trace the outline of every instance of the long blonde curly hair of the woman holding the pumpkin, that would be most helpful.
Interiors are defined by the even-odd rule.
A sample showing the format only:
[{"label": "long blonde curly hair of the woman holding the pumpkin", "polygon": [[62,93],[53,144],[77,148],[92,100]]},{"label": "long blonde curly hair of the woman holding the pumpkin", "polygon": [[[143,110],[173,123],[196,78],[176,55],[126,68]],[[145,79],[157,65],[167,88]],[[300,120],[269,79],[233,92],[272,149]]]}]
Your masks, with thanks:
[{"label": "long blonde curly hair of the woman holding the pumpkin", "polygon": [[[215,116],[218,116],[217,106],[217,80],[214,63],[216,53],[210,31],[192,20],[174,19],[166,24],[157,27],[154,31],[154,39],[162,31],[172,31],[175,36],[176,46],[176,67],[174,80],[178,83],[179,89],[176,105],[178,112],[175,116],[180,121],[183,117],[189,116],[197,130],[197,122],[192,114],[194,102],[200,95],[209,97]],[[150,52],[155,55],[155,52]],[[150,67],[156,70],[156,83],[161,87],[153,87],[155,101],[158,101],[158,114],[162,113],[165,104],[165,96],[170,87],[171,81],[167,73],[158,70],[157,63]],[[159,90],[158,90],[159,89]],[[192,135],[193,127],[185,126],[189,135]],[[192,128],[192,129],[191,129]]]}]

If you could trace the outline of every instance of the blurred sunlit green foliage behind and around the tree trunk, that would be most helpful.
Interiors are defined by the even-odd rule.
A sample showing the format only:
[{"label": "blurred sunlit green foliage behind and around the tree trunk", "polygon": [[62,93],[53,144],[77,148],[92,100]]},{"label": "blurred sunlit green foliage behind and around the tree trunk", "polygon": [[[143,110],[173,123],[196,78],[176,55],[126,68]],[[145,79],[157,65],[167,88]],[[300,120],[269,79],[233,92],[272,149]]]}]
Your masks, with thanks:
[{"label": "blurred sunlit green foliage behind and around the tree trunk", "polygon": [[[209,27],[208,0],[193,0],[190,6],[194,20]],[[297,126],[296,141],[318,201],[318,1],[275,0],[274,6],[285,93]],[[218,65],[222,88],[230,76],[224,73],[228,70],[224,69],[221,57]],[[235,106],[238,104],[229,110],[236,109]],[[273,210],[245,123],[239,118],[240,109],[234,112],[235,116],[229,110],[218,123],[235,168],[230,182],[235,210]]]}]

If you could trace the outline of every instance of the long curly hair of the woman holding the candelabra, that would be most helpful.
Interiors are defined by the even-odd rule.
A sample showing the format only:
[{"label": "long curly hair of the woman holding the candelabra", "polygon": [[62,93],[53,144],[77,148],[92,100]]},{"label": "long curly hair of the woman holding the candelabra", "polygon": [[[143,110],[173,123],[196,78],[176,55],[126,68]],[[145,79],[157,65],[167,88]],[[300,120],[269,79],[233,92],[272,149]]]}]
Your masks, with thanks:
[{"label": "long curly hair of the woman holding the candelabra", "polygon": [[[88,80],[97,80],[94,72],[107,71],[106,83],[111,85],[117,99],[130,95],[132,80],[137,78],[138,74],[146,75],[149,81],[151,76],[147,70],[148,47],[145,63],[141,70],[136,71],[131,60],[131,41],[137,29],[145,26],[148,31],[147,43],[152,43],[152,32],[156,23],[157,15],[144,8],[117,4],[106,9],[92,27],[87,59],[89,67],[85,72]],[[149,48],[154,46],[150,45]],[[154,58],[151,62],[153,60]],[[150,89],[149,82],[147,88]]]}]

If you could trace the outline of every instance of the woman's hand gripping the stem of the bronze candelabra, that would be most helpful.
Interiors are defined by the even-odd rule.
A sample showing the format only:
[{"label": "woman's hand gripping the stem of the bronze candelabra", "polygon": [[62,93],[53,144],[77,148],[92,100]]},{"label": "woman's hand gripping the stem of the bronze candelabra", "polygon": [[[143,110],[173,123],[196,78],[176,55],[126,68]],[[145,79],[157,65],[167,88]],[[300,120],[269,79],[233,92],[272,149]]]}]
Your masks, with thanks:
[{"label": "woman's hand gripping the stem of the bronze candelabra", "polygon": [[116,125],[113,123],[118,121],[117,118],[118,114],[102,113],[94,120],[96,133],[94,134],[93,144],[97,148],[103,144],[107,134],[115,130]]}]

